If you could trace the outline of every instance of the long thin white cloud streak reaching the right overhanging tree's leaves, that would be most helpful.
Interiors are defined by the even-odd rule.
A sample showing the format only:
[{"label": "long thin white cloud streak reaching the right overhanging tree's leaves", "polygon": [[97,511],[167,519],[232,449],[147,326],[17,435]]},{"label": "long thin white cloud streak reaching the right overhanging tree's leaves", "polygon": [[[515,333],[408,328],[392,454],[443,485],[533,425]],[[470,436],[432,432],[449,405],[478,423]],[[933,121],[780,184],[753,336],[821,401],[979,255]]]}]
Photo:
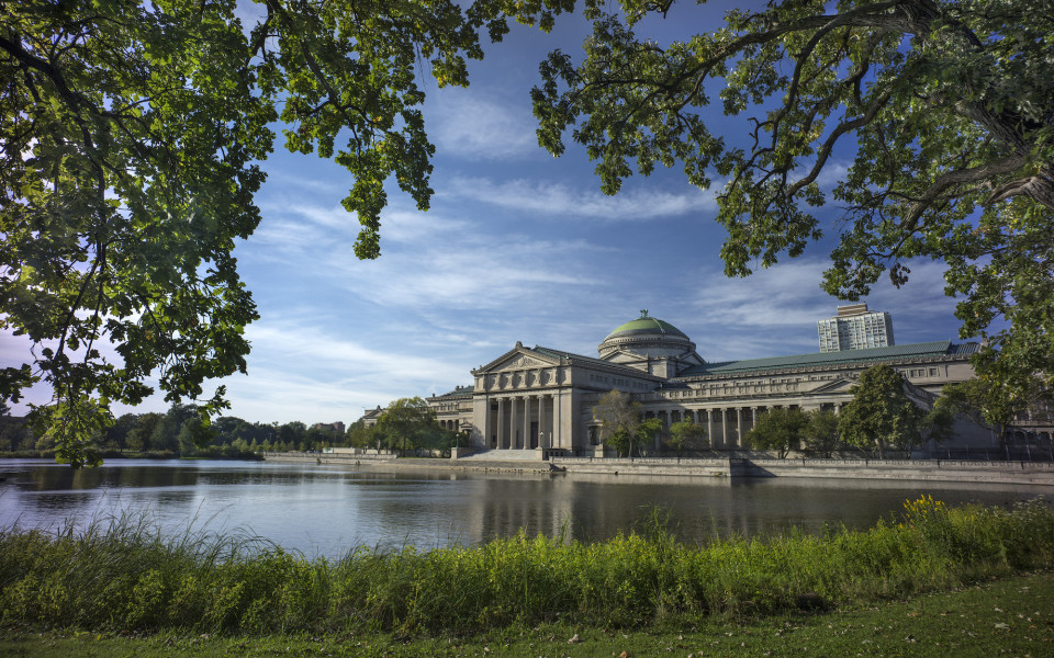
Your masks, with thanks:
[{"label": "long thin white cloud streak reaching the right overhanging tree's leaves", "polygon": [[495,184],[486,179],[456,178],[442,194],[542,216],[570,215],[612,222],[711,213],[717,207],[714,193],[702,190],[671,193],[644,188],[608,196],[595,189],[583,191],[560,183],[523,179]]}]

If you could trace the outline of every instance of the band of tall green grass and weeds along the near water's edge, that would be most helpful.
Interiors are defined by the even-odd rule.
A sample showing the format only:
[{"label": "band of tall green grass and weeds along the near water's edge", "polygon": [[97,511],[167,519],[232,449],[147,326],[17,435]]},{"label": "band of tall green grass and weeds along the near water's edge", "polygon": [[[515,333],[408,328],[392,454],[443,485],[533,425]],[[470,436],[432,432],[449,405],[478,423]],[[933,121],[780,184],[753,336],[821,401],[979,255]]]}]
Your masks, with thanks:
[{"label": "band of tall green grass and weeds along the near water's edge", "polygon": [[636,627],[839,605],[1054,566],[1054,510],[922,498],[868,531],[697,546],[661,519],[599,543],[494,540],[305,559],[266,542],[165,538],[122,518],[0,532],[0,620],[112,629],[473,633],[546,621]]}]

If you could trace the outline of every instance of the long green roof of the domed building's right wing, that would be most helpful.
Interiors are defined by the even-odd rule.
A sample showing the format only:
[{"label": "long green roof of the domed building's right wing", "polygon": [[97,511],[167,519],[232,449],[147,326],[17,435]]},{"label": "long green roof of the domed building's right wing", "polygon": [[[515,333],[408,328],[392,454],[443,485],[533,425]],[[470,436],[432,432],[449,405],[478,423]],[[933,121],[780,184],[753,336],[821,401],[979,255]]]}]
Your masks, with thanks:
[{"label": "long green roof of the domed building's right wing", "polygon": [[953,344],[950,340],[939,340],[926,343],[889,345],[886,348],[867,348],[864,350],[841,350],[837,352],[816,352],[812,354],[793,354],[789,356],[770,356],[767,359],[704,363],[703,365],[694,365],[685,370],[679,376],[717,375],[785,367],[805,367],[810,365],[848,365],[851,363],[893,361],[896,359],[923,359],[927,356],[968,356],[969,354],[976,353],[978,349],[977,343]]}]

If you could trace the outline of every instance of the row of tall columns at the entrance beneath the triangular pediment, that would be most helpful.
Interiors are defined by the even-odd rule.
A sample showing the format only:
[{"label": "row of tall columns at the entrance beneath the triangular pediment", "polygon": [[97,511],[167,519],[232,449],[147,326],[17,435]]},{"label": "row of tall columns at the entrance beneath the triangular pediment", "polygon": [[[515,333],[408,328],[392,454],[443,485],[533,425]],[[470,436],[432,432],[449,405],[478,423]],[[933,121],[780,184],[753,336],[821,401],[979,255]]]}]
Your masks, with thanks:
[{"label": "row of tall columns at the entrance beneath the triangular pediment", "polygon": [[559,395],[535,394],[491,398],[484,436],[498,450],[562,447]]}]

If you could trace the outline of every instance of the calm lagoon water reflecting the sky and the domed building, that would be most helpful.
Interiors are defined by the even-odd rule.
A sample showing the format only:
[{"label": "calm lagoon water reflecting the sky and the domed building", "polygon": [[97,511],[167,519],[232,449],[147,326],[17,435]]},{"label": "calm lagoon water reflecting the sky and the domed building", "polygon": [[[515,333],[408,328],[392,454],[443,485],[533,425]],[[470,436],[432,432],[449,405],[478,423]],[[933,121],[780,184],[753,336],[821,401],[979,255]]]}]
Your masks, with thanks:
[{"label": "calm lagoon water reflecting the sky and the domed building", "polygon": [[421,549],[530,536],[603,540],[658,508],[694,542],[797,526],[866,527],[928,494],[949,504],[1012,504],[1051,487],[919,481],[516,475],[375,470],[273,462],[110,461],[72,470],[0,461],[0,527],[83,526],[145,514],[166,534],[190,529],[264,537],[304,555],[356,546]]}]

